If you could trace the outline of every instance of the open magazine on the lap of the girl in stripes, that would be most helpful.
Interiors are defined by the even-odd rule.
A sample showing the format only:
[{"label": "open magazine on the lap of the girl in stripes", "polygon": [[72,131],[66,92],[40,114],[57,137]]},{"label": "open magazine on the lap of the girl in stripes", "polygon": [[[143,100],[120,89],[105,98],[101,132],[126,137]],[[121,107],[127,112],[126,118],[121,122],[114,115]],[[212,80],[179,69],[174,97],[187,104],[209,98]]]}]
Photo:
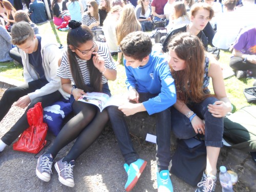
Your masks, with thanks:
[{"label": "open magazine on the lap of the girl in stripes", "polygon": [[102,112],[107,106],[121,106],[124,103],[129,102],[127,94],[112,95],[111,97],[108,94],[98,92],[88,92],[86,94],[87,95],[81,96],[78,101],[94,104],[98,106],[100,112]]}]

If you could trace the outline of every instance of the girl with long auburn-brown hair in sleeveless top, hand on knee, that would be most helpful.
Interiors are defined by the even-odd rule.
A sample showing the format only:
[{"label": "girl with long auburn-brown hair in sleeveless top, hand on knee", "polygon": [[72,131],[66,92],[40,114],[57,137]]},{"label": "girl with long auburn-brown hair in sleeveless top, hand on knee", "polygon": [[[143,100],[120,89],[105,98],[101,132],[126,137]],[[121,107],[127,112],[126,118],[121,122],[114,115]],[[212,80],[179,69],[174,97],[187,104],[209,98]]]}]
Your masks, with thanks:
[{"label": "girl with long auburn-brown hair in sleeveless top, hand on knee", "polygon": [[[172,131],[179,139],[205,137],[207,163],[196,191],[214,191],[217,160],[223,145],[223,117],[232,108],[222,69],[216,59],[205,56],[201,40],[193,34],[177,34],[168,49],[177,92],[177,102],[172,108]],[[208,90],[210,78],[214,95]]]}]

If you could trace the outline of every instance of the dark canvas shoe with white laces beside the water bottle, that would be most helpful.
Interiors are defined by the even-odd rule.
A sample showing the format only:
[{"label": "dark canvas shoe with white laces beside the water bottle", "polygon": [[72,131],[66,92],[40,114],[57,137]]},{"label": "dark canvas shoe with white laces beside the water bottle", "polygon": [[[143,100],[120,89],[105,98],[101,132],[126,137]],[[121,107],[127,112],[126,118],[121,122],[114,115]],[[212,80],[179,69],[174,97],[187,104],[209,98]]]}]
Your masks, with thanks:
[{"label": "dark canvas shoe with white laces beside the water bottle", "polygon": [[204,172],[201,181],[197,184],[198,187],[195,192],[214,192],[216,181],[216,176],[206,175]]}]

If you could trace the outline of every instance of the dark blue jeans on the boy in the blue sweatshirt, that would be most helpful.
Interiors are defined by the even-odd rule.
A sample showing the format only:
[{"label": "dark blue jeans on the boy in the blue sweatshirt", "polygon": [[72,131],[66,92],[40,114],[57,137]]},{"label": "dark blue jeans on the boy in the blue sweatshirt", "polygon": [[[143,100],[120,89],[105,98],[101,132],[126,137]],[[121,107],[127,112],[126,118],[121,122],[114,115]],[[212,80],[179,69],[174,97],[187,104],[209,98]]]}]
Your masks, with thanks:
[{"label": "dark blue jeans on the boy in the blue sweatshirt", "polygon": [[[156,96],[156,94],[139,93],[140,102],[146,101]],[[124,114],[118,110],[117,106],[108,107],[109,118],[112,123],[112,128],[117,137],[120,151],[127,164],[131,164],[139,158],[139,155],[134,150],[132,140],[129,134],[127,124],[124,119]],[[170,108],[155,113],[156,117],[156,135],[157,135],[157,164],[161,166],[169,166],[170,162]]]}]

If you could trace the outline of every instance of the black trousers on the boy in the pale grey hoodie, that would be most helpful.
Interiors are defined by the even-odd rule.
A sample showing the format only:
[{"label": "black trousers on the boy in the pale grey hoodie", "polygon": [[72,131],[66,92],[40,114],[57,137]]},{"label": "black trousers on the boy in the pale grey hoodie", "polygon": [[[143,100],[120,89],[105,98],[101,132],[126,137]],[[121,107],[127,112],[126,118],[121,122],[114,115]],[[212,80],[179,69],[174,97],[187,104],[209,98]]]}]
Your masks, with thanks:
[{"label": "black trousers on the boy in the pale grey hoodie", "polygon": [[[17,101],[20,97],[27,95],[28,93],[32,93],[37,89],[45,86],[48,83],[47,80],[34,80],[24,84],[23,86],[19,86],[16,88],[10,88],[5,91],[2,99],[0,100],[0,121],[5,117],[5,115],[10,110],[12,104]],[[21,134],[23,133],[29,126],[27,120],[27,112],[30,108],[37,102],[41,102],[42,108],[49,106],[50,104],[54,103],[55,101],[61,98],[61,94],[59,91],[55,91],[51,94],[44,95],[41,97],[35,98],[29,104],[25,113],[18,119],[18,121],[11,127],[11,129],[1,138],[1,140],[10,145],[12,142]]]}]

